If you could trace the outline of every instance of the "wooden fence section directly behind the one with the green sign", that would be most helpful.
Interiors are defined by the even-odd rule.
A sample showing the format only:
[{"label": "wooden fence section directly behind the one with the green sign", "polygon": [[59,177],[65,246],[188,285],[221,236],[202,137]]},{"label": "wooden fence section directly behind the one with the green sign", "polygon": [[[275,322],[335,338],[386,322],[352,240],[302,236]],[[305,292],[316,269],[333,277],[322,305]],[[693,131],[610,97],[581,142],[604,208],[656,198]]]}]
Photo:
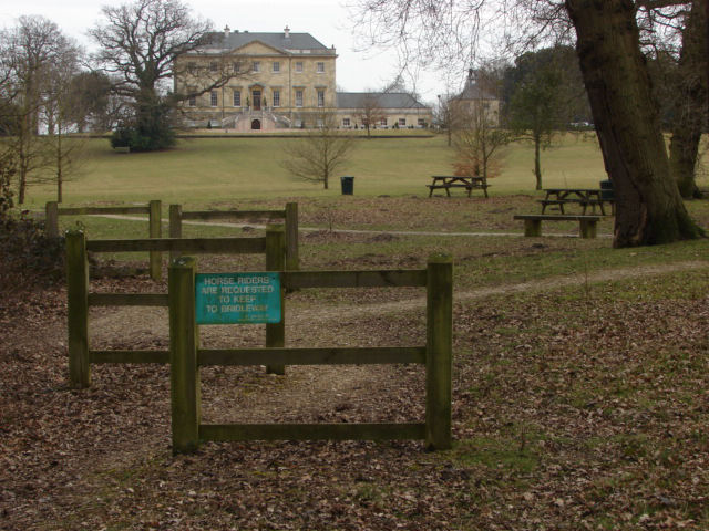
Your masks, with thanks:
[{"label": "wooden fence section directly behind the one with the green sign", "polygon": [[[266,268],[284,269],[282,227],[269,227],[264,238],[199,238],[86,240],[80,230],[66,232],[66,292],[69,313],[69,382],[91,385],[92,363],[169,363],[169,351],[95,351],[89,347],[89,306],[167,306],[167,293],[91,293],[92,252],[183,251],[193,253],[266,253]],[[282,323],[266,325],[266,345],[282,346]],[[268,367],[282,373],[281,367]]]}]

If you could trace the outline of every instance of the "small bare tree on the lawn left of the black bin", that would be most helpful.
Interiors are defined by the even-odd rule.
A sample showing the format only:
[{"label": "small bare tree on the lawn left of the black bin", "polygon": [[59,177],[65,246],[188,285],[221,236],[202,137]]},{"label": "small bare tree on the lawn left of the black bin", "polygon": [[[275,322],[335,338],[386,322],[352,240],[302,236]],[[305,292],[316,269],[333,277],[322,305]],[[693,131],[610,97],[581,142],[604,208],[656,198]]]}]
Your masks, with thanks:
[{"label": "small bare tree on the lawn left of the black bin", "polygon": [[316,125],[304,136],[289,140],[284,148],[288,158],[281,165],[294,177],[322,183],[327,190],[330,177],[347,164],[354,139],[338,129],[333,113],[318,115]]}]

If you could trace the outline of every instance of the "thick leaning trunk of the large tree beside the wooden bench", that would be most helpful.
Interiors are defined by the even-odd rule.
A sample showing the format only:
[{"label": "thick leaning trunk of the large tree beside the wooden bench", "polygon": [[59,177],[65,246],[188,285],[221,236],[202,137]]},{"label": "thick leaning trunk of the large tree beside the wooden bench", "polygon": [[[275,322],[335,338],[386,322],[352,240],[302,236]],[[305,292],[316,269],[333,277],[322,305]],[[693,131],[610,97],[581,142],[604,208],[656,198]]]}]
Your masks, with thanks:
[{"label": "thick leaning trunk of the large tree beside the wooden bench", "polygon": [[566,0],[579,65],[616,197],[614,247],[698,238],[669,173],[630,0]]}]

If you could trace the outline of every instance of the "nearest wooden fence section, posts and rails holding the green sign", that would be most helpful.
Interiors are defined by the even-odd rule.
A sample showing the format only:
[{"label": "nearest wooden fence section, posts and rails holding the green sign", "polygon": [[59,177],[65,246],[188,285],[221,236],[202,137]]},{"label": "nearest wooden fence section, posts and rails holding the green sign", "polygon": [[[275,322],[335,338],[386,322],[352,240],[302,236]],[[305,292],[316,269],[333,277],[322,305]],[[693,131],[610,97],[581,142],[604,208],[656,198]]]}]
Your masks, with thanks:
[{"label": "nearest wooden fence section, posts and rails holding the green sign", "polygon": [[[411,271],[285,271],[284,289],[427,288],[427,344],[373,348],[199,348],[195,312],[195,260],[168,269],[173,451],[195,451],[201,441],[250,439],[425,439],[451,447],[452,262],[432,257]],[[207,365],[425,364],[425,421],[379,424],[202,424],[199,367]]]}]

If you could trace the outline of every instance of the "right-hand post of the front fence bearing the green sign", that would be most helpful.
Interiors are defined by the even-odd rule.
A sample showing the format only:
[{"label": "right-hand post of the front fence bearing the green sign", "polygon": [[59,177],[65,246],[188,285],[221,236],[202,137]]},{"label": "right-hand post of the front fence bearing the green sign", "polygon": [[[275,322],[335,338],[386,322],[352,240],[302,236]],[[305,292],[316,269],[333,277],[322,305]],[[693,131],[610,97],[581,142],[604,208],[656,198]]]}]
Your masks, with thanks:
[{"label": "right-hand post of the front fence bearing the green sign", "polygon": [[425,444],[451,448],[451,368],[453,354],[453,262],[429,257],[427,280]]}]

